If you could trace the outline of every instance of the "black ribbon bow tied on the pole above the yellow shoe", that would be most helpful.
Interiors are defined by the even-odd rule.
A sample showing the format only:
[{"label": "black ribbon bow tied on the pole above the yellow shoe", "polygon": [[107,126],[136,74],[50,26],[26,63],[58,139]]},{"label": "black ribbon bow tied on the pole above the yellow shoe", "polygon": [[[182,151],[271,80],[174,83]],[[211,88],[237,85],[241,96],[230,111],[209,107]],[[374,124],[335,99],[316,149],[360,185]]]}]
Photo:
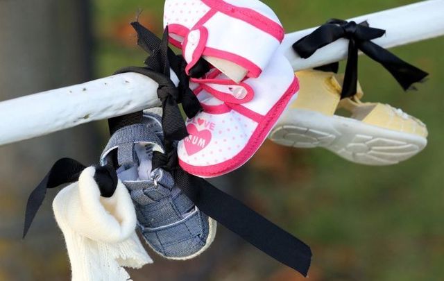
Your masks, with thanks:
[{"label": "black ribbon bow tied on the pole above the yellow shoe", "polygon": [[350,41],[341,93],[342,99],[354,96],[357,92],[359,50],[379,62],[392,74],[404,90],[409,90],[413,83],[422,81],[429,74],[370,41],[382,37],[385,33],[386,31],[382,29],[369,27],[368,22],[357,24],[341,19],[330,19],[313,33],[293,44],[293,49],[301,58],[309,58],[316,50],[336,40],[346,38]]}]

